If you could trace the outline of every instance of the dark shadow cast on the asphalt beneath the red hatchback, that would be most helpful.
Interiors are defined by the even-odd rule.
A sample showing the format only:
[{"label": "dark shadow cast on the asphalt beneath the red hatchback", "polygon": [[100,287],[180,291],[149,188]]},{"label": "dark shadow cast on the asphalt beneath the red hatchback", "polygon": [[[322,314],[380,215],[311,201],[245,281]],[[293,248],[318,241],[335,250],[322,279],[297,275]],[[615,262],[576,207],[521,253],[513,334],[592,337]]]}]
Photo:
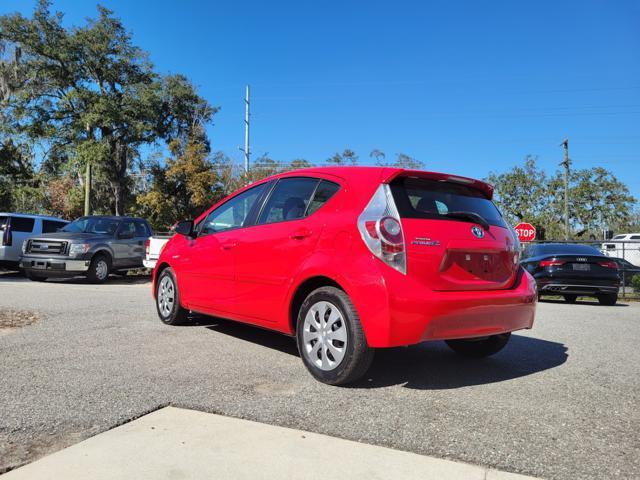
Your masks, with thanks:
[{"label": "dark shadow cast on the asphalt beneath the red hatchback", "polygon": [[[205,315],[194,315],[191,325],[298,356],[295,340],[277,332]],[[504,350],[484,359],[461,357],[444,342],[426,342],[379,349],[366,376],[349,388],[400,384],[425,390],[461,388],[525,377],[558,367],[567,357],[567,347],[562,343],[522,335],[512,335]]]}]

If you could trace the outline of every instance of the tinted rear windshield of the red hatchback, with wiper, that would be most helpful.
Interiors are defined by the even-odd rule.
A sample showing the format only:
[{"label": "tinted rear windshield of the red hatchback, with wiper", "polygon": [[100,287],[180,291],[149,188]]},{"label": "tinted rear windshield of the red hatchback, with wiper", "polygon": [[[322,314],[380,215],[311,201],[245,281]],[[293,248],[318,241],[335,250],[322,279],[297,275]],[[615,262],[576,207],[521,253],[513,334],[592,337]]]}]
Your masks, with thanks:
[{"label": "tinted rear windshield of the red hatchback, with wiper", "polygon": [[469,212],[480,215],[490,225],[507,228],[493,202],[467,185],[405,177],[394,180],[391,191],[402,218],[464,221],[448,214]]}]

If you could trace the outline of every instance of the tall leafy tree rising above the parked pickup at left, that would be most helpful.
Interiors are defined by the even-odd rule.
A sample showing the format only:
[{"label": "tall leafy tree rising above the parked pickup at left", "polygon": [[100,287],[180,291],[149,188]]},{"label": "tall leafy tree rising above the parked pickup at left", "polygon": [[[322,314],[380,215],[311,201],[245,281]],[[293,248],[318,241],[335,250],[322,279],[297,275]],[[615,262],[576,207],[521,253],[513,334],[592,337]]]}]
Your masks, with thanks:
[{"label": "tall leafy tree rising above the parked pickup at left", "polygon": [[9,88],[7,62],[0,68],[3,119],[11,119],[3,128],[65,152],[79,171],[91,161],[121,214],[140,147],[186,138],[216,109],[186,77],[157,74],[110,10],[65,28],[49,5],[40,0],[31,19],[0,17],[0,43],[20,52]]}]

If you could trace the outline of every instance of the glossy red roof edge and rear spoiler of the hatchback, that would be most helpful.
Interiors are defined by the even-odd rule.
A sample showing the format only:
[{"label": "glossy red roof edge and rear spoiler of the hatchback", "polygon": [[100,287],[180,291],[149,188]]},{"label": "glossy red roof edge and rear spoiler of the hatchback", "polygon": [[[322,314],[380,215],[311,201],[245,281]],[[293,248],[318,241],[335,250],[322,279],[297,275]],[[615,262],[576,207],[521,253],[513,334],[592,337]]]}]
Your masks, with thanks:
[{"label": "glossy red roof edge and rear spoiler of the hatchback", "polygon": [[365,181],[365,182],[378,182],[378,183],[390,183],[398,177],[417,177],[425,178],[437,181],[451,181],[455,183],[462,183],[469,185],[480,190],[487,198],[493,197],[493,186],[483,182],[482,180],[476,180],[475,178],[463,177],[460,175],[431,172],[427,170],[410,170],[406,168],[398,167],[361,167],[361,166],[328,166],[328,167],[311,167],[303,168],[299,170],[291,170],[288,172],[273,175],[269,179],[282,178],[282,177],[295,177],[296,175],[314,175],[324,174],[333,175],[343,178],[347,181]]}]

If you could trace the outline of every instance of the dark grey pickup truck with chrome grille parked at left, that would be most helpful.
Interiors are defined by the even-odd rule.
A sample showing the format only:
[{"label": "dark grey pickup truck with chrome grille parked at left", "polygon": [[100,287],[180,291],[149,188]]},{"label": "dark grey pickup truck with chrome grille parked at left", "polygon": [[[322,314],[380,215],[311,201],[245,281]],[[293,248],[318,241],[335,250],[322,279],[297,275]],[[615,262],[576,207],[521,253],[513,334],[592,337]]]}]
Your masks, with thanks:
[{"label": "dark grey pickup truck with chrome grille parked at left", "polygon": [[57,232],[25,240],[20,267],[31,280],[85,275],[102,283],[109,273],[142,267],[151,235],[142,218],[80,217]]}]

